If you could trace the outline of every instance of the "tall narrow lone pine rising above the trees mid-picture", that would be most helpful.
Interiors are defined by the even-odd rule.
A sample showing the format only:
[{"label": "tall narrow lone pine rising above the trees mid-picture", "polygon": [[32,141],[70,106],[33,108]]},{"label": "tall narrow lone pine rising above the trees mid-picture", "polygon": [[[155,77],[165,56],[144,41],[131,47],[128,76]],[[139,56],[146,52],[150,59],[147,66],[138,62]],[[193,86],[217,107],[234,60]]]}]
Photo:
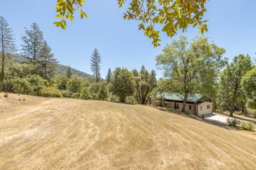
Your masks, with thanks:
[{"label": "tall narrow lone pine rising above the trees mid-picture", "polygon": [[91,56],[91,70],[93,72],[93,76],[96,78],[96,82],[100,81],[100,63],[100,53],[97,48],[95,48]]}]

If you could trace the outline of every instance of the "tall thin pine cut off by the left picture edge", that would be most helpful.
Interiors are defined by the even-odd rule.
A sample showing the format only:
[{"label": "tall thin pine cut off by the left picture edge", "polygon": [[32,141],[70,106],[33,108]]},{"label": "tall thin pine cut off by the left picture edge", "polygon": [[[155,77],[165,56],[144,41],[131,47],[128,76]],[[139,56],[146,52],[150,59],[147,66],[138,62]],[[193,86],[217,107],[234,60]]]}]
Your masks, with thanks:
[{"label": "tall thin pine cut off by the left picture edge", "polygon": [[0,77],[1,82],[4,80],[5,77],[4,65],[6,54],[15,51],[13,36],[14,35],[12,34],[12,28],[9,28],[9,24],[6,22],[6,20],[3,17],[0,17],[0,50],[2,50],[2,71]]}]

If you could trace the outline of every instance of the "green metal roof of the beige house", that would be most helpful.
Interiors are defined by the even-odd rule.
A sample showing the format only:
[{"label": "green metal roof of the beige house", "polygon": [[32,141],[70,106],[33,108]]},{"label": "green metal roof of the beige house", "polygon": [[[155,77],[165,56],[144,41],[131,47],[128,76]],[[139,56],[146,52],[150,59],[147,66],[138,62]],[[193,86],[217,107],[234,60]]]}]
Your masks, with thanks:
[{"label": "green metal roof of the beige house", "polygon": [[[158,95],[160,97],[160,95]],[[187,98],[187,102],[198,102],[205,95],[204,94],[189,94]],[[163,93],[162,96],[166,100],[175,100],[175,101],[183,101],[184,96],[178,93]],[[209,98],[209,96],[207,96]]]}]

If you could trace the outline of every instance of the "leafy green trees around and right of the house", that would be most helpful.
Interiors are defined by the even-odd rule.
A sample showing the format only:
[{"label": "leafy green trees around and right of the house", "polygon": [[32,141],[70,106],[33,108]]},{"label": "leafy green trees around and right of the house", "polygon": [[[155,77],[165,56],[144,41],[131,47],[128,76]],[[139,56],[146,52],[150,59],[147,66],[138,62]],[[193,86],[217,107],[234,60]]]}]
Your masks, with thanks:
[{"label": "leafy green trees around and right of the house", "polygon": [[[201,36],[191,42],[181,36],[167,44],[156,56],[157,68],[163,71],[159,79],[159,94],[177,93],[186,103],[188,96],[207,94],[214,102],[214,109],[247,114],[256,109],[256,69],[249,55],[239,54],[228,63],[223,58],[225,49]],[[183,104],[182,111],[186,111]],[[255,112],[255,111],[254,111]]]}]

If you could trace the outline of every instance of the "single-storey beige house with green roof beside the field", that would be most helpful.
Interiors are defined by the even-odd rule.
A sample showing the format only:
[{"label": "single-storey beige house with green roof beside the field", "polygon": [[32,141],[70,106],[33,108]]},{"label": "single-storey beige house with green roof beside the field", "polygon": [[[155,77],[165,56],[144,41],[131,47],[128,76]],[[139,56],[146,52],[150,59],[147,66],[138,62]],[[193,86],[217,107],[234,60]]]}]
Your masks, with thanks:
[{"label": "single-storey beige house with green roof beside the field", "polygon": [[[161,99],[163,107],[182,110],[183,96],[176,93],[163,93],[161,98],[150,98],[151,106],[161,106]],[[213,112],[212,99],[204,94],[189,95],[186,102],[186,111],[190,114],[202,116],[209,115]]]}]

